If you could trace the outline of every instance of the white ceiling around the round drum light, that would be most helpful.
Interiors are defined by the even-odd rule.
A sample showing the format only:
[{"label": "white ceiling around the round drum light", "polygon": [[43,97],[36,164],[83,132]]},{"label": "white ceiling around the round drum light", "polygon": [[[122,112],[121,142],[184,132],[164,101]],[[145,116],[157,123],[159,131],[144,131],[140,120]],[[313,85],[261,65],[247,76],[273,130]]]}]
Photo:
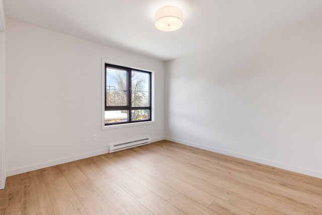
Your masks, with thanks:
[{"label": "white ceiling around the round drum light", "polygon": [[[160,60],[254,37],[322,16],[322,0],[5,0],[6,17]],[[171,5],[183,27],[162,32]]]}]

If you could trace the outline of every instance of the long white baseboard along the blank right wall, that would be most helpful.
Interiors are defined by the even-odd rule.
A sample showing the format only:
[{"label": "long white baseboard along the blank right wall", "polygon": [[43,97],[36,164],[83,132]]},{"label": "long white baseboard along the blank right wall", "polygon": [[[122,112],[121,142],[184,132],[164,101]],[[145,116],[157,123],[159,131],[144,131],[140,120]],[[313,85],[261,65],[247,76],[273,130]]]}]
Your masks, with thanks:
[{"label": "long white baseboard along the blank right wall", "polygon": [[244,159],[244,160],[248,160],[248,161],[253,161],[256,163],[260,163],[260,164],[265,164],[265,165],[269,165],[272,167],[277,167],[280,169],[284,169],[284,170],[289,170],[292,172],[297,172],[297,173],[301,173],[304,175],[309,175],[309,176],[313,176],[316,178],[322,178],[322,172],[318,172],[315,170],[310,170],[310,169],[304,169],[302,167],[296,167],[293,165],[289,165],[289,164],[283,164],[280,162],[276,162],[276,161],[270,161],[267,159],[263,159],[263,158],[258,158],[258,157],[254,157],[254,156],[250,156],[250,155],[245,155],[245,154],[240,154],[240,153],[235,153],[235,152],[231,152],[231,151],[227,151],[227,150],[221,150],[221,149],[217,149],[214,147],[208,147],[208,146],[204,146],[201,144],[195,144],[194,142],[189,142],[189,141],[185,141],[185,140],[181,140],[181,139],[176,139],[176,138],[172,138],[172,137],[165,137],[165,139],[170,140],[170,141],[174,141],[174,142],[178,142],[179,144],[184,144],[187,146],[191,146],[191,147],[196,147],[199,149],[203,149],[203,150],[208,150],[211,152],[216,152],[216,153],[220,153],[223,155],[229,155],[235,158],[240,158],[240,159]]}]

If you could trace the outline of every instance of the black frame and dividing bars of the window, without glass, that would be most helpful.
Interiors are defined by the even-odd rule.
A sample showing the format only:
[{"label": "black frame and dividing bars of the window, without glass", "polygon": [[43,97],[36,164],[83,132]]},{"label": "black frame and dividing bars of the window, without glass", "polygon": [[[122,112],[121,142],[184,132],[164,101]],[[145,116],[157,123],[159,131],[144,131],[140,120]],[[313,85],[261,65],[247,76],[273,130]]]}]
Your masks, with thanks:
[{"label": "black frame and dividing bars of the window, without glass", "polygon": [[[107,86],[106,86],[106,75],[107,75],[107,68],[116,68],[121,70],[127,71],[127,105],[126,106],[107,106]],[[138,71],[140,73],[146,73],[149,75],[149,105],[146,107],[132,107],[132,71]],[[138,122],[146,122],[146,121],[152,121],[152,73],[150,71],[145,71],[141,69],[136,68],[130,68],[126,66],[120,66],[120,65],[113,65],[109,63],[105,63],[105,80],[104,80],[104,91],[105,91],[105,98],[104,98],[104,106],[105,111],[118,111],[118,110],[127,110],[127,122],[114,122],[114,123],[105,123],[105,117],[104,117],[104,124],[105,126],[109,125],[118,125],[118,124],[129,124],[129,123],[138,123]],[[132,110],[149,110],[149,118],[144,120],[135,120],[132,121]]]}]

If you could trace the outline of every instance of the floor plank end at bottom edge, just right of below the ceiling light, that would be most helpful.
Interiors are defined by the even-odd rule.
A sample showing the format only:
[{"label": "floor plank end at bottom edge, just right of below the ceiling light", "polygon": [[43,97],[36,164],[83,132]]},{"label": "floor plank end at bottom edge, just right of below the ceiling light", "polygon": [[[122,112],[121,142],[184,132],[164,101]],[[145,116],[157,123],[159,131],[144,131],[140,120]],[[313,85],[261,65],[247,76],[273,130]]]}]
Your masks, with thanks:
[{"label": "floor plank end at bottom edge, just right of below the ceiling light", "polygon": [[198,202],[188,198],[182,193],[178,193],[168,200],[171,204],[189,215],[216,215],[217,213],[209,210],[207,207]]}]

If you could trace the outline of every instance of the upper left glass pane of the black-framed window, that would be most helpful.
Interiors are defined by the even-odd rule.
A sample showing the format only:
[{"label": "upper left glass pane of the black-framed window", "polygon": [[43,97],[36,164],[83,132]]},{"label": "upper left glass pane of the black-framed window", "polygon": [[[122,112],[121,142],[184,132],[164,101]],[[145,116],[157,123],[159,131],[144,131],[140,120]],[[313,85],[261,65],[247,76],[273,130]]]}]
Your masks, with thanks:
[{"label": "upper left glass pane of the black-framed window", "polygon": [[106,106],[127,105],[127,71],[106,68]]}]

